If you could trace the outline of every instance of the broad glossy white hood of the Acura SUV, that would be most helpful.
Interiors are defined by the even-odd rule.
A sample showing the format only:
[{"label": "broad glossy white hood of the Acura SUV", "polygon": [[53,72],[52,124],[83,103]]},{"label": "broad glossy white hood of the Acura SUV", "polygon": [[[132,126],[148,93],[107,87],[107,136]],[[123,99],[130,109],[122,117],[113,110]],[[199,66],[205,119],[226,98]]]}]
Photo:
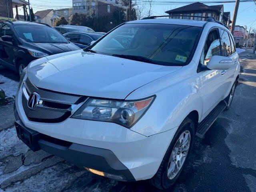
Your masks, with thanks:
[{"label": "broad glossy white hood of the Acura SUV", "polygon": [[133,90],[182,68],[90,52],[45,60],[28,66],[28,78],[37,87],[115,99],[125,99]]}]

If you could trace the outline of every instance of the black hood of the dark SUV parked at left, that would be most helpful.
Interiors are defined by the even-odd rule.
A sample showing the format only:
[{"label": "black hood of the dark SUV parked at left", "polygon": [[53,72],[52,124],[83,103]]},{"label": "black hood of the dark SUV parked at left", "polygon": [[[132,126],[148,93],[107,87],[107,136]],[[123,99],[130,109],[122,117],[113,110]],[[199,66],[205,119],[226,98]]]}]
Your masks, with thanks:
[{"label": "black hood of the dark SUV parked at left", "polygon": [[34,46],[36,50],[46,52],[50,55],[63,53],[63,52],[70,52],[80,49],[73,43],[29,43],[30,45]]}]

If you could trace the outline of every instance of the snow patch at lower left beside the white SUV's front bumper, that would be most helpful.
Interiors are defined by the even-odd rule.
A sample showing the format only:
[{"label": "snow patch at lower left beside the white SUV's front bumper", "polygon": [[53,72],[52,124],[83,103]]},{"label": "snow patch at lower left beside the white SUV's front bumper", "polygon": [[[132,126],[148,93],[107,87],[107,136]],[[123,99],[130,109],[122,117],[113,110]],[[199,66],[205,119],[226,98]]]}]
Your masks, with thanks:
[{"label": "snow patch at lower left beside the white SUV's front bumper", "polygon": [[18,138],[15,127],[0,132],[0,158],[26,154],[28,150],[28,146]]}]

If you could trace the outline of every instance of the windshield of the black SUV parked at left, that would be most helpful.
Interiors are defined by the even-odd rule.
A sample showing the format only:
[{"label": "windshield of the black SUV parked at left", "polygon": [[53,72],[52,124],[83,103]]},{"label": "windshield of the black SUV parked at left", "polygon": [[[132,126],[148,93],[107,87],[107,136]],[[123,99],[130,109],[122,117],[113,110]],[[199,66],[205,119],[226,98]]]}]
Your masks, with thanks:
[{"label": "windshield of the black SUV parked at left", "polygon": [[18,36],[27,42],[33,43],[69,43],[54,28],[36,25],[17,25],[14,27]]}]

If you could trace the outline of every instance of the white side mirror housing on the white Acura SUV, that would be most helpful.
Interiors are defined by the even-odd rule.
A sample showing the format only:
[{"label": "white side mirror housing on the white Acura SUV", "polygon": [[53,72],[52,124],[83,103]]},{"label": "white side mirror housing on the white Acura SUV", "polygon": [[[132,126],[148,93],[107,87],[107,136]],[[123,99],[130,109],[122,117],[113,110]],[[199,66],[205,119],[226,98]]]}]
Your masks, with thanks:
[{"label": "white side mirror housing on the white Acura SUV", "polygon": [[210,70],[227,70],[234,62],[229,57],[214,55],[207,64],[207,68]]}]

